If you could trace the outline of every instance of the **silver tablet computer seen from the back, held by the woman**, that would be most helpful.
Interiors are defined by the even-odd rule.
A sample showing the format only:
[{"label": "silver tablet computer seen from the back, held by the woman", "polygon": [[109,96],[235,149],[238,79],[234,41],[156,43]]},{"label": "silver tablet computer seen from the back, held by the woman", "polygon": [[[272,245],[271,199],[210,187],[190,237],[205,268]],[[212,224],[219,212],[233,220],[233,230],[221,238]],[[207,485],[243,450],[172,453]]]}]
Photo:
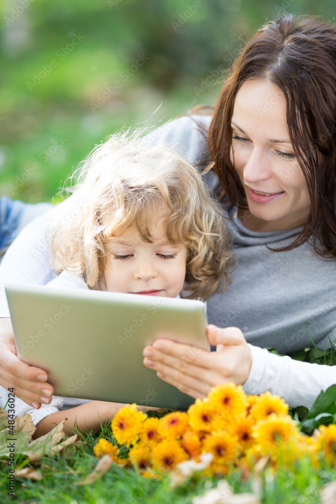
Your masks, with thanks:
[{"label": "silver tablet computer seen from the back, held by the woman", "polygon": [[186,410],[190,396],[143,364],[159,336],[209,350],[197,300],[46,286],[7,286],[18,356],[48,373],[57,396]]}]

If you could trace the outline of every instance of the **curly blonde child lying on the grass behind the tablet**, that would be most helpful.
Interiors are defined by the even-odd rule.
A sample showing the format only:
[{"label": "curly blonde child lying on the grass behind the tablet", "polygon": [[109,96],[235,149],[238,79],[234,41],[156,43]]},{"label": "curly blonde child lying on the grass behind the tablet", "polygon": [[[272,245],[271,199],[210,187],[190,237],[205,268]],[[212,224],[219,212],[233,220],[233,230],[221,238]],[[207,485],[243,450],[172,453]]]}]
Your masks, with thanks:
[{"label": "curly blonde child lying on the grass behind the tablet", "polygon": [[[72,201],[50,227],[60,274],[48,286],[201,300],[226,287],[221,207],[167,146],[148,147],[139,132],[113,135],[85,163]],[[74,407],[64,414],[66,406]],[[64,416],[66,427],[97,430],[121,406],[53,396],[29,413],[42,435]]]}]

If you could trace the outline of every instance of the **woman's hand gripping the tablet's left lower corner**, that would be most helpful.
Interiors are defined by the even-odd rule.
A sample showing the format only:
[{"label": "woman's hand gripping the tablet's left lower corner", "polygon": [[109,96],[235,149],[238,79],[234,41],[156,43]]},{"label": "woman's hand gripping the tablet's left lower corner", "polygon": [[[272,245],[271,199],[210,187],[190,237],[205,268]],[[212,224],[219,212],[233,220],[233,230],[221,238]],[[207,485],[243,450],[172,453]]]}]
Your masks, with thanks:
[{"label": "woman's hand gripping the tablet's left lower corner", "polygon": [[47,378],[43,369],[17,357],[11,319],[0,319],[0,385],[15,387],[16,397],[38,409],[51,401],[53,388],[45,383]]}]

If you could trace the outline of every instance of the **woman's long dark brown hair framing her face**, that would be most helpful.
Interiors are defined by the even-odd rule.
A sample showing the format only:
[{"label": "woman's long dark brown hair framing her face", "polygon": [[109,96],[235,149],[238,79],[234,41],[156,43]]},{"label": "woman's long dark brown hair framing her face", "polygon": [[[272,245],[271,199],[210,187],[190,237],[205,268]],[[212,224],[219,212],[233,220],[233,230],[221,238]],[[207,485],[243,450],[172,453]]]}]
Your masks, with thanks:
[{"label": "woman's long dark brown hair framing her face", "polygon": [[[276,84],[287,103],[289,137],[311,200],[308,219],[285,251],[306,241],[325,258],[336,256],[336,28],[312,17],[282,15],[259,29],[236,59],[221,91],[208,144],[230,204],[246,209],[244,188],[230,161],[231,117],[247,79]],[[318,153],[324,161],[318,165]]]}]

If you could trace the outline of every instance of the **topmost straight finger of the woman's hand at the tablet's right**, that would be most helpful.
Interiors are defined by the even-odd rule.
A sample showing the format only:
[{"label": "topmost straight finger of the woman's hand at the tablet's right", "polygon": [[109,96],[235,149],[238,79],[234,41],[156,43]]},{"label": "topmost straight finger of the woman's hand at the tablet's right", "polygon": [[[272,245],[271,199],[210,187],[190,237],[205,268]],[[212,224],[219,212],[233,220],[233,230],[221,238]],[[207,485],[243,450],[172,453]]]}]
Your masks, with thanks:
[{"label": "topmost straight finger of the woman's hand at the tablet's right", "polygon": [[174,367],[179,365],[177,364],[178,362],[192,362],[196,367],[209,369],[213,362],[211,352],[199,347],[183,345],[167,339],[156,340],[152,346],[144,349],[144,355],[152,360],[160,360],[161,362],[169,360]]}]

